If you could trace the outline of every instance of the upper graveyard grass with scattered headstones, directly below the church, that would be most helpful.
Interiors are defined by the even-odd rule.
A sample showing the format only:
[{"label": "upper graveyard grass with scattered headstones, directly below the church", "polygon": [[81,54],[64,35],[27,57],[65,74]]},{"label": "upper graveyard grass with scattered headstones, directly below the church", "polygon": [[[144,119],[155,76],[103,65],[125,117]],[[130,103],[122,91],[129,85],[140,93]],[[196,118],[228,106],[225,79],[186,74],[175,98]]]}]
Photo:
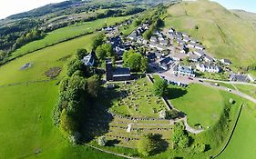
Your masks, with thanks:
[{"label": "upper graveyard grass with scattered headstones, directly below the church", "polygon": [[159,117],[159,111],[166,109],[163,101],[152,92],[153,84],[142,78],[131,84],[118,83],[110,110],[113,113],[132,117]]}]

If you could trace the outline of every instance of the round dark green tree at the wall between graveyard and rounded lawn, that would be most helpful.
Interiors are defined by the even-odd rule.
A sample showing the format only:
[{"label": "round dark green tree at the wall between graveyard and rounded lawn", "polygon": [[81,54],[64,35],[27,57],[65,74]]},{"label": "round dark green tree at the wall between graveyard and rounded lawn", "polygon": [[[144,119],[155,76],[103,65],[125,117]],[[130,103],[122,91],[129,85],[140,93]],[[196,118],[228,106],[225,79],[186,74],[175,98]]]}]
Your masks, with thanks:
[{"label": "round dark green tree at the wall between graveyard and rounded lawn", "polygon": [[163,97],[168,93],[168,84],[165,80],[159,79],[154,83],[154,94]]}]

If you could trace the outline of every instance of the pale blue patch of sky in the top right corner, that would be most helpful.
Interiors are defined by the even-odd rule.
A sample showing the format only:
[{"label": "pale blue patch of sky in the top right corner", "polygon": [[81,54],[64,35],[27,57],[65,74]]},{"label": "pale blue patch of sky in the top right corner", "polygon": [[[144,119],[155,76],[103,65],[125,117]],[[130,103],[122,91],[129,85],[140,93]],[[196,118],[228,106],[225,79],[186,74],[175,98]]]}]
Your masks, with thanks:
[{"label": "pale blue patch of sky in the top right corner", "polygon": [[242,9],[256,13],[256,0],[211,0],[218,2],[228,9]]}]

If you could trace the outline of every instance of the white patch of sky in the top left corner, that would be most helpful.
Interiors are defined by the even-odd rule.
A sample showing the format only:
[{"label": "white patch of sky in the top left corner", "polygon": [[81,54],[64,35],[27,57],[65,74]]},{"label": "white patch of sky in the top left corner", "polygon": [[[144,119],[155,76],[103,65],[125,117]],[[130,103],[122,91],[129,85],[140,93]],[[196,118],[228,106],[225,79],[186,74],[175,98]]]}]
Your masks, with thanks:
[{"label": "white patch of sky in the top left corner", "polygon": [[0,19],[64,0],[0,0]]}]

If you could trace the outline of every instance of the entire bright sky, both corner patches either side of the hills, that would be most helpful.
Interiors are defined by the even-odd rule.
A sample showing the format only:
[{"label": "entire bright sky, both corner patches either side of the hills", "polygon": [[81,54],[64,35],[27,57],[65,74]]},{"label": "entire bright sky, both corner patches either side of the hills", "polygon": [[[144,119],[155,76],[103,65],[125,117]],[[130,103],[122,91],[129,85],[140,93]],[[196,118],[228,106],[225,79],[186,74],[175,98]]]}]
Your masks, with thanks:
[{"label": "entire bright sky, both corner patches either side of the hills", "polygon": [[[64,0],[0,0],[0,19],[15,15],[36,7]],[[212,0],[228,9],[243,9],[256,13],[256,0]]]}]

